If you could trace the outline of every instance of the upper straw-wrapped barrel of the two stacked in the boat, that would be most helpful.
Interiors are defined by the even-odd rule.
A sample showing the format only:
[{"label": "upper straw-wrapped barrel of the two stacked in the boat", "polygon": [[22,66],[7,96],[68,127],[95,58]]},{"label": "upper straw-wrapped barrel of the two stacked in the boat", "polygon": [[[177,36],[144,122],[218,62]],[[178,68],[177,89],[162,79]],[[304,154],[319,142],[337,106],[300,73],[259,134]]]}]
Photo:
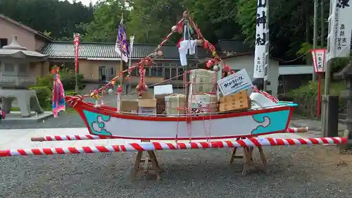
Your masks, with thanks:
[{"label": "upper straw-wrapped barrel of the two stacked in the boat", "polygon": [[217,75],[215,71],[195,69],[190,71],[189,94],[215,93]]}]

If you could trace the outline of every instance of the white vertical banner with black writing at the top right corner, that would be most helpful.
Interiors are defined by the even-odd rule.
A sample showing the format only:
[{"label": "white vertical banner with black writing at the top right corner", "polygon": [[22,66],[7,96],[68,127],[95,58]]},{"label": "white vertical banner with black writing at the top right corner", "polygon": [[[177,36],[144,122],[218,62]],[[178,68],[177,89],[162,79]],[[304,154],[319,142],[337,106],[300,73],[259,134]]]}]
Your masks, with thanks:
[{"label": "white vertical banner with black writing at the top right corner", "polygon": [[327,37],[327,61],[349,57],[352,35],[352,2],[331,0],[329,35]]}]

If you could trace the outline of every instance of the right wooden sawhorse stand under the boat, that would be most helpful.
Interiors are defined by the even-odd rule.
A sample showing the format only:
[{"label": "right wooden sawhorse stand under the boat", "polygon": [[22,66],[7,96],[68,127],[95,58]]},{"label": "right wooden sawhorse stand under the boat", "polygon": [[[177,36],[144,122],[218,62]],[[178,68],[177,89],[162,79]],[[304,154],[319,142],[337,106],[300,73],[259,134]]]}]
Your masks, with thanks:
[{"label": "right wooden sawhorse stand under the boat", "polygon": [[[237,139],[239,140],[239,139]],[[262,147],[257,147],[260,154],[261,168],[266,173],[268,171],[268,163],[265,158]],[[237,147],[232,150],[230,163],[234,162],[234,159],[244,159],[244,168],[242,170],[242,175],[246,175],[250,170],[253,170],[255,167],[253,161],[253,150],[254,147],[243,147],[243,156],[236,156]]]}]

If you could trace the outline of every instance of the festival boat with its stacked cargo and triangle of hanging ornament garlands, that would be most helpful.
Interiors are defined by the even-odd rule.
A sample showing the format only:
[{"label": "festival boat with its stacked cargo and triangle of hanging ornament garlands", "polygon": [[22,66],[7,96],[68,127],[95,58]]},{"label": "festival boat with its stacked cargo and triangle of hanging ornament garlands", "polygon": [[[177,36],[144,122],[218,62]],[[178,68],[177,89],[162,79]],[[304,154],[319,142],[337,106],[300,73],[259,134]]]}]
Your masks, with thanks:
[{"label": "festival boat with its stacked cargo and triangle of hanging ornament garlands", "polygon": [[[123,57],[127,56],[127,42],[123,28],[120,27],[119,30],[121,32],[117,41],[120,46],[118,53],[124,59]],[[153,109],[158,101],[156,94],[154,93],[155,97],[142,97],[148,89],[144,82],[145,69],[153,67],[153,58],[163,57],[163,44],[176,32],[183,35],[177,44],[182,66],[187,68],[187,53],[194,54],[197,47],[209,51],[212,58],[208,59],[206,69],[184,72],[184,95],[173,94],[172,88],[171,92],[162,93],[162,97],[158,99],[162,98],[166,113],[165,109],[162,113],[156,113]],[[193,39],[193,36],[196,39]],[[117,89],[118,108],[98,103],[103,97],[102,93],[112,92],[111,89],[107,90],[108,87],[116,85],[116,80],[134,69],[139,71],[140,76],[139,85],[136,87],[139,112],[121,111],[121,85]],[[222,74],[219,80],[218,73]],[[187,75],[191,75],[191,80],[188,80]],[[68,96],[65,100],[80,113],[90,134],[138,140],[210,140],[285,132],[296,106],[291,103],[279,103],[275,97],[257,89],[252,85],[246,70],[234,73],[218,56],[213,44],[203,37],[187,11],[149,56],[142,58],[142,61],[127,70],[120,71],[106,86],[94,90],[89,96],[97,100],[96,104],[85,102],[84,97],[80,96]],[[174,101],[177,100],[175,105],[165,104],[172,100],[172,97]],[[150,111],[141,110],[141,103],[148,103],[149,106],[142,107]]]}]

